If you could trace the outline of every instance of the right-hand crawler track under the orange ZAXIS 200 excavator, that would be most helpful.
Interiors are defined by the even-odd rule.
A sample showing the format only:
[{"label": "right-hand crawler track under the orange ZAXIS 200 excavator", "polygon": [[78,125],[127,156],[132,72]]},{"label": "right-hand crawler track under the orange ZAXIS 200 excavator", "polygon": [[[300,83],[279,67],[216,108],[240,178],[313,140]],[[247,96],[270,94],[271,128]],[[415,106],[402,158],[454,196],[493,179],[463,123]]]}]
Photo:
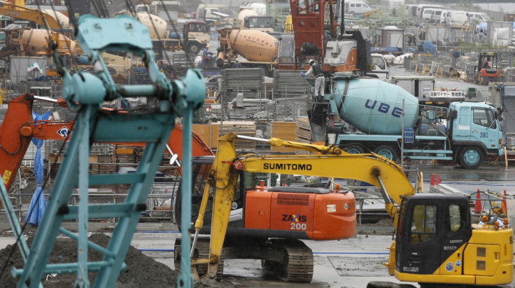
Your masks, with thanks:
[{"label": "right-hand crawler track under the orange ZAXIS 200 excavator", "polygon": [[285,254],[279,262],[262,260],[262,268],[288,282],[311,282],[313,252],[300,240],[272,239],[272,249]]}]

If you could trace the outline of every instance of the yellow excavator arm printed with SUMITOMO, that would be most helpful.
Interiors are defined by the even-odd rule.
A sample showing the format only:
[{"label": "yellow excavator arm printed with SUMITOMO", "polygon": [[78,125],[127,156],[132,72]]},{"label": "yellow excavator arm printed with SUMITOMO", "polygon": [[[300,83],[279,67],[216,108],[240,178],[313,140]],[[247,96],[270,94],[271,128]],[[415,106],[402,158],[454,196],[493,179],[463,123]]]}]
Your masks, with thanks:
[{"label": "yellow excavator arm printed with SUMITOMO", "polygon": [[[218,150],[209,173],[204,196],[195,222],[195,238],[192,242],[192,250],[195,249],[197,235],[204,222],[204,212],[209,194],[213,193],[213,217],[211,222],[211,246],[209,259],[196,259],[196,263],[209,263],[208,277],[216,277],[218,261],[222,252],[225,233],[234,198],[234,188],[237,185],[238,172],[265,172],[281,174],[302,174],[306,176],[347,178],[366,181],[381,189],[385,200],[386,210],[393,217],[394,225],[397,224],[397,204],[402,197],[408,197],[415,193],[409,183],[402,167],[396,165],[375,153],[350,154],[337,146],[322,146],[299,142],[284,141],[277,138],[260,139],[254,137],[239,138],[255,141],[265,141],[271,146],[291,147],[306,151],[316,151],[318,155],[292,155],[292,156],[258,156],[246,154],[237,156],[234,142],[237,136],[228,133],[218,139]],[[195,270],[195,269],[193,269]],[[195,274],[195,273],[194,273]],[[198,275],[197,275],[198,277]]]}]

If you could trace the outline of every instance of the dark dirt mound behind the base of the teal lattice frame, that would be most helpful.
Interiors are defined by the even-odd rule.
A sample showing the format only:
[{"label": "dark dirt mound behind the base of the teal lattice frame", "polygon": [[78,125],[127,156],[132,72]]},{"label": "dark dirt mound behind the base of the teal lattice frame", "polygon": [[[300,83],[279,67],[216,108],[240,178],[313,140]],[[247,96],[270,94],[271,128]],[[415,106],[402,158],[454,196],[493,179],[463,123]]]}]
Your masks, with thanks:
[{"label": "dark dirt mound behind the base of the teal lattice frame", "polygon": [[[90,240],[101,247],[107,247],[109,236],[103,233],[94,233],[90,236]],[[29,237],[27,245],[31,246],[34,237]],[[0,278],[0,287],[16,287],[19,278],[15,279],[10,275],[10,269],[14,266],[22,268],[24,266],[20,250],[15,247],[15,250],[6,263],[9,254],[13,249],[13,245],[8,245],[6,248],[0,250],[0,267],[3,269],[3,274]],[[88,261],[101,261],[103,254],[88,249]],[[77,242],[69,238],[58,238],[55,241],[54,249],[50,255],[48,263],[71,263],[77,262]],[[129,247],[127,256],[125,257],[127,269],[120,272],[116,287],[136,288],[136,287],[175,287],[177,283],[178,273],[172,270],[163,263],[157,262],[154,259],[146,256],[138,249]],[[5,266],[5,267],[4,267]],[[88,273],[90,284],[94,283],[97,273]],[[44,287],[73,287],[73,282],[76,280],[76,274],[57,274],[55,277],[52,275],[44,275],[41,282]]]}]

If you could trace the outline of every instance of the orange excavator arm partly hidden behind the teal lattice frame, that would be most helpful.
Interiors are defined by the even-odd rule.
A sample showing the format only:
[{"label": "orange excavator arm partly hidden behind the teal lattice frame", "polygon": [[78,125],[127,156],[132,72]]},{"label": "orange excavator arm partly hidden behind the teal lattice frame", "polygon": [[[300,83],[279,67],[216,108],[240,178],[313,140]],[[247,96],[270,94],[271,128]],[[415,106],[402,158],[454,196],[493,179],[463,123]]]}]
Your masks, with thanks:
[{"label": "orange excavator arm partly hidden behind the teal lattice frame", "polygon": [[[46,97],[34,96],[26,93],[13,100],[10,100],[6,116],[0,125],[0,172],[3,184],[7,191],[13,185],[16,173],[22,164],[23,157],[32,137],[38,139],[67,140],[73,131],[73,121],[34,121],[32,118],[32,104],[34,99],[46,100]],[[50,100],[66,107],[66,101]],[[119,113],[120,111],[113,111]],[[183,158],[183,126],[176,123],[176,128],[172,130],[168,140],[168,152],[175,154],[178,159]],[[173,139],[173,141],[172,141]],[[131,143],[133,146],[144,146]],[[193,156],[213,156],[209,146],[196,133],[192,132],[192,155]]]}]

